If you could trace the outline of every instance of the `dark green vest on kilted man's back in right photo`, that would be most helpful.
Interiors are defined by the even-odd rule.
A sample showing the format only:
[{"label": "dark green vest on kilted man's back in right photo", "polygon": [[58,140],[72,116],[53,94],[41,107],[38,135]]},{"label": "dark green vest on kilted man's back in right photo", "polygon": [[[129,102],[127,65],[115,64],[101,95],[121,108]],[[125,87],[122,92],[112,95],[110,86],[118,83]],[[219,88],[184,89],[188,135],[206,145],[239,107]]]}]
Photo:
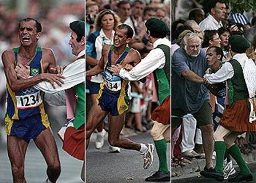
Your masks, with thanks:
[{"label": "dark green vest on kilted man's back in right photo", "polygon": [[249,98],[249,93],[244,80],[241,64],[237,60],[229,61],[234,69],[234,76],[228,79],[228,101],[229,104],[234,101]]}]

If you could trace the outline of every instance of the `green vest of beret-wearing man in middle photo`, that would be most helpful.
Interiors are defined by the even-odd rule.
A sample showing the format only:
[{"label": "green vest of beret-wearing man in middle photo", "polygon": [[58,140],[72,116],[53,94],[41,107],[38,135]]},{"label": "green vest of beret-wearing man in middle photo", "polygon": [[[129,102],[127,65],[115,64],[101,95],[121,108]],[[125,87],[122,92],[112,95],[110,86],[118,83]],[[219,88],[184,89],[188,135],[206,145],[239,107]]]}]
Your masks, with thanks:
[{"label": "green vest of beret-wearing man in middle photo", "polygon": [[165,64],[163,69],[156,69],[154,71],[156,91],[158,94],[158,101],[163,103],[164,99],[170,95],[170,47],[166,45],[158,45],[156,48],[163,50],[165,56]]}]

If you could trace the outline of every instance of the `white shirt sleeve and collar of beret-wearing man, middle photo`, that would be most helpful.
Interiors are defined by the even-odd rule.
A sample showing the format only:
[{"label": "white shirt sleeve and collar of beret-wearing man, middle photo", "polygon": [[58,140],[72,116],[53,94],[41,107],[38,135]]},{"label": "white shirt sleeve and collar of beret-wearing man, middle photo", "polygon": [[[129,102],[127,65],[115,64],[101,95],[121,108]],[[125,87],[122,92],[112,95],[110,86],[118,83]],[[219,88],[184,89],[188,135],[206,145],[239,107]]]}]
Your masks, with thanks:
[{"label": "white shirt sleeve and collar of beret-wearing man, middle photo", "polygon": [[[160,38],[153,43],[153,48],[158,45],[171,46],[171,42],[167,38]],[[140,80],[156,69],[162,69],[165,64],[165,56],[163,50],[160,48],[152,49],[148,55],[142,59],[132,70],[127,71],[121,69],[119,72],[120,77],[125,80]]]}]

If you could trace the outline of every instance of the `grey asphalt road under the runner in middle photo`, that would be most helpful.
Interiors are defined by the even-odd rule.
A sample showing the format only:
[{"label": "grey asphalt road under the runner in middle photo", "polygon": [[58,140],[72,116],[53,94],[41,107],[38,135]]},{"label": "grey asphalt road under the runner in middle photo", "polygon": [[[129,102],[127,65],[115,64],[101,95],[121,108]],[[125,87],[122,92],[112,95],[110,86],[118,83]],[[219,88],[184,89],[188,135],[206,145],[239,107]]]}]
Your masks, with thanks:
[{"label": "grey asphalt road under the runner in middle photo", "polygon": [[[129,137],[139,143],[153,143],[149,133]],[[93,139],[92,139],[93,141]],[[153,165],[143,169],[143,158],[139,152],[121,149],[121,153],[108,153],[108,144],[101,150],[96,150],[94,143],[86,154],[86,183],[145,183],[144,179],[158,169],[158,158],[154,151]],[[168,144],[168,149],[170,148]],[[168,150],[168,157],[169,157]]]}]

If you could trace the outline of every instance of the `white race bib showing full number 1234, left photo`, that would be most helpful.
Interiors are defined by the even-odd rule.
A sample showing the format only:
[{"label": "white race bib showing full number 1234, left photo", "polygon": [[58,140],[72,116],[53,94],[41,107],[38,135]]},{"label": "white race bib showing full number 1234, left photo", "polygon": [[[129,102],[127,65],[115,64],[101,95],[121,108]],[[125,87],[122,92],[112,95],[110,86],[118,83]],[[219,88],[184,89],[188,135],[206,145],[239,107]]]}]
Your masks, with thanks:
[{"label": "white race bib showing full number 1234, left photo", "polygon": [[16,101],[18,109],[36,108],[42,103],[40,91],[29,95],[16,96]]}]

